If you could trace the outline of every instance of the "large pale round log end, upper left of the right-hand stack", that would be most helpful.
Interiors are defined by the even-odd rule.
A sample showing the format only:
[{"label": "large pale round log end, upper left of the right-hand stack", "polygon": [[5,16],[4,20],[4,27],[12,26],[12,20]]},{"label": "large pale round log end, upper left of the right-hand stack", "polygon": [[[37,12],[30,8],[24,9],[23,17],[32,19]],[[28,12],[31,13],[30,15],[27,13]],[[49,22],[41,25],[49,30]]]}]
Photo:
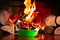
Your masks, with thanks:
[{"label": "large pale round log end, upper left of the right-hand stack", "polygon": [[56,23],[55,23],[55,18],[56,16],[55,15],[50,15],[48,16],[46,19],[45,19],[45,25],[46,26],[56,26]]}]

